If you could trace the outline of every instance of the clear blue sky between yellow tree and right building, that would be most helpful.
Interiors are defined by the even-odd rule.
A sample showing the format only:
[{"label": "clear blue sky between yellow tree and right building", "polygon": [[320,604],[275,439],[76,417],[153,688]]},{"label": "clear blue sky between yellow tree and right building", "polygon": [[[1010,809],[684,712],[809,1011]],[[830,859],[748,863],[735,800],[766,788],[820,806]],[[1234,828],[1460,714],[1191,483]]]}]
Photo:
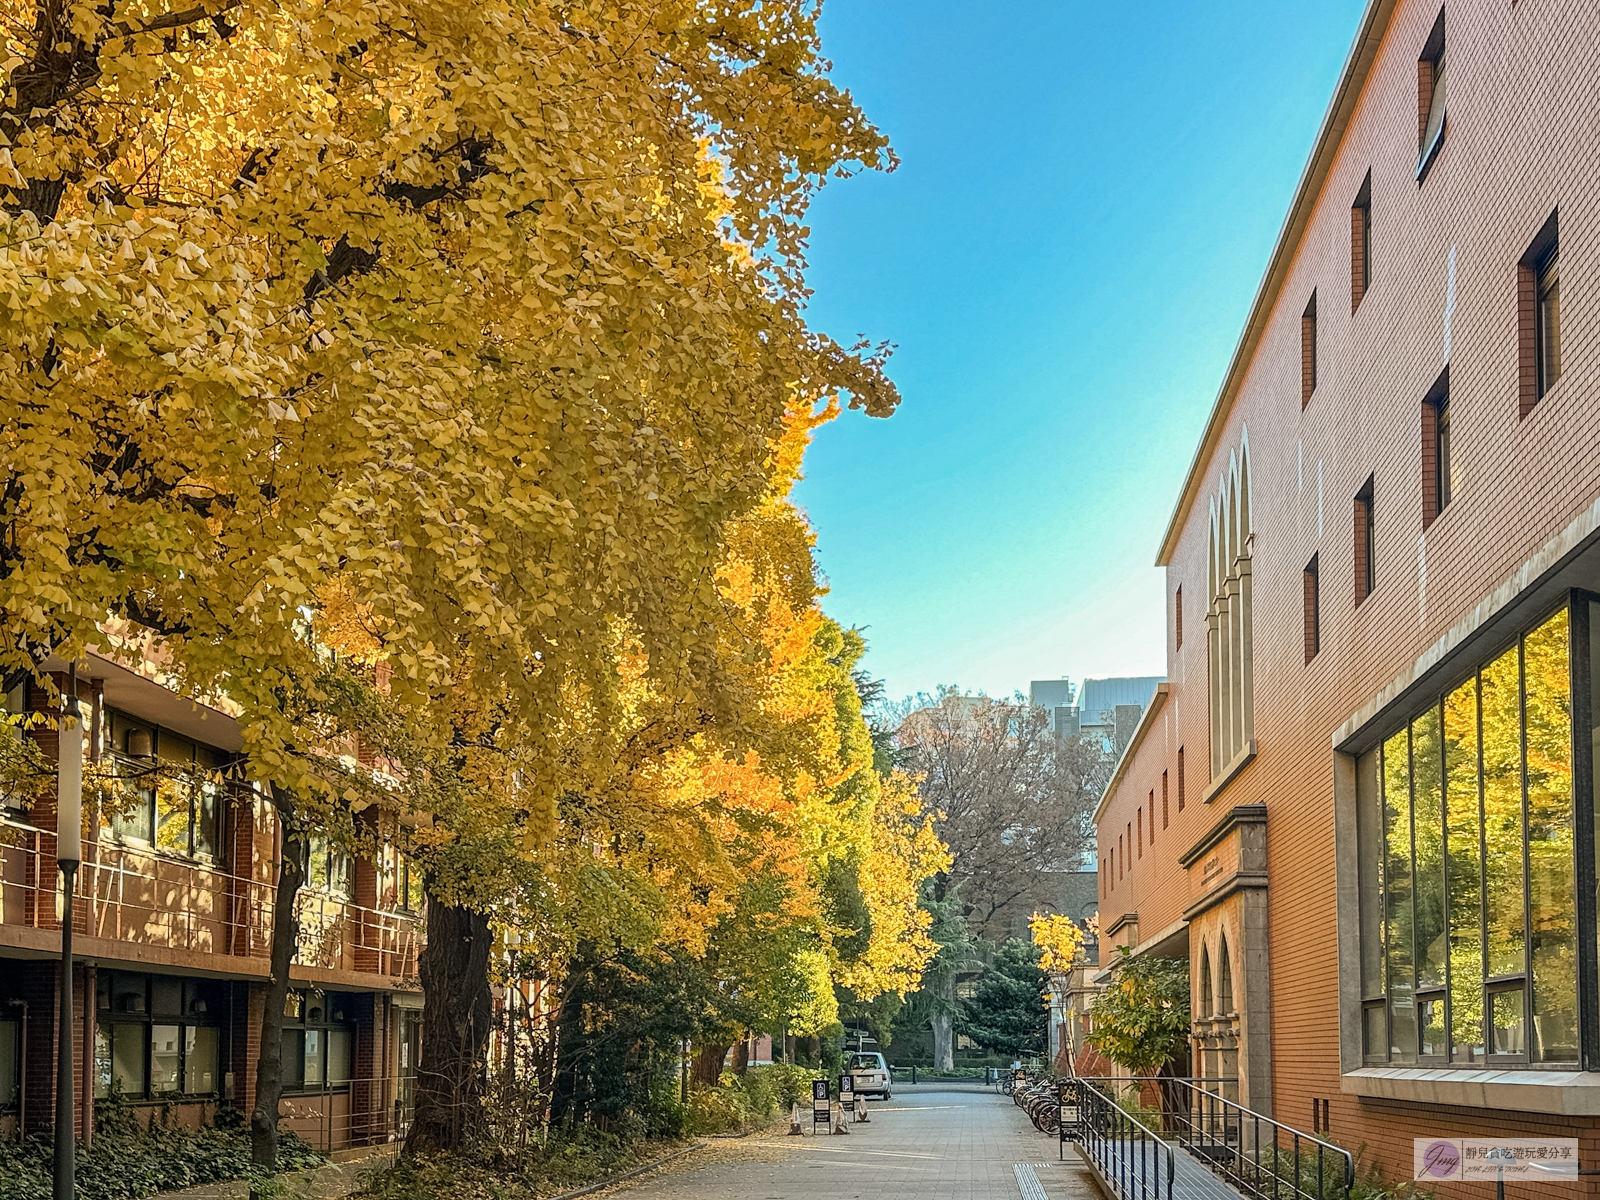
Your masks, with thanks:
[{"label": "clear blue sky between yellow tree and right building", "polygon": [[810,318],[904,405],[797,501],[890,696],[1165,670],[1157,542],[1360,13],[826,2],[904,165],[813,208]]}]

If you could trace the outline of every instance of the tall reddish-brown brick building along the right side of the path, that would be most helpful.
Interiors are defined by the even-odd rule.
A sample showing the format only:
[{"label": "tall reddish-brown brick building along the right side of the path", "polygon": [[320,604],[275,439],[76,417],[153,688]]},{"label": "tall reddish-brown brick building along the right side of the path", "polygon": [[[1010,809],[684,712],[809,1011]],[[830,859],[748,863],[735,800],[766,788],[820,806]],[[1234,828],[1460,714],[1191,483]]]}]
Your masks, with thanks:
[{"label": "tall reddish-brown brick building along the right side of the path", "polygon": [[1592,5],[1368,6],[1096,813],[1101,962],[1186,957],[1194,1074],[1390,1178],[1600,1166],[1597,112]]}]

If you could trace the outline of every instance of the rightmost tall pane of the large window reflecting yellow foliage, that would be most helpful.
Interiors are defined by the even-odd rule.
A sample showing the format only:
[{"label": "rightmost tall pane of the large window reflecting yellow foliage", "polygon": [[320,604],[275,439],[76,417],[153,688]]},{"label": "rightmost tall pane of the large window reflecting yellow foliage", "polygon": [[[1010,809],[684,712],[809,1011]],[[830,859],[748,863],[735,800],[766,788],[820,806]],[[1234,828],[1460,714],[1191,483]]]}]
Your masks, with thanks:
[{"label": "rightmost tall pane of the large window reflecting yellow foliage", "polygon": [[1566,610],[1523,640],[1528,715],[1528,867],[1533,912],[1533,1053],[1578,1061],[1578,886],[1573,859],[1573,717]]}]

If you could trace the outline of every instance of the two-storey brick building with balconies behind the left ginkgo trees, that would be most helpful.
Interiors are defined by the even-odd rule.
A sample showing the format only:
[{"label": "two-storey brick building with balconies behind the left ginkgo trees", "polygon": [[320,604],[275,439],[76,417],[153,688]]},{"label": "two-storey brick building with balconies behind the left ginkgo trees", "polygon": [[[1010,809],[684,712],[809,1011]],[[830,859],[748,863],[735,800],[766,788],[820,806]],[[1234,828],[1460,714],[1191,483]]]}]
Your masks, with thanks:
[{"label": "two-storey brick building with balconies behind the left ginkgo trees", "polygon": [[[128,1102],[187,1125],[254,1102],[278,827],[218,709],[90,656],[88,829],[74,904],[78,1136]],[[45,664],[61,667],[66,664]],[[66,675],[56,674],[66,688]],[[11,712],[56,752],[48,693]],[[91,798],[93,794],[93,798]],[[285,1128],[322,1149],[387,1139],[416,1070],[422,893],[394,850],[312,842],[283,1034]],[[0,1136],[54,1125],[61,888],[54,802],[0,797]]]}]

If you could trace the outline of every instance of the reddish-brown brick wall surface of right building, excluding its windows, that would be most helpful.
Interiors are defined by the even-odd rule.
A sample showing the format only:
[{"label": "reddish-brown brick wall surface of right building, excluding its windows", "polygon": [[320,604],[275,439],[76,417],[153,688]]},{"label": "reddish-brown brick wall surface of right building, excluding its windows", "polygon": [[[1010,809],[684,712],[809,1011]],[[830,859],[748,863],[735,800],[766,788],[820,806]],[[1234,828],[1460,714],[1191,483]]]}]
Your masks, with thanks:
[{"label": "reddish-brown brick wall surface of right building, excluding its windows", "polygon": [[[1168,589],[1205,595],[1206,499],[1248,427],[1258,758],[1214,803],[1174,813],[1160,853],[1131,862],[1102,899],[1102,914],[1136,910],[1146,934],[1179,920],[1187,896],[1178,854],[1224,806],[1266,803],[1275,1109],[1306,1123],[1310,1101],[1330,1099],[1333,1133],[1347,1146],[1368,1146],[1390,1178],[1410,1174],[1413,1136],[1446,1128],[1578,1131],[1586,1155],[1600,1149],[1589,1120],[1384,1106],[1339,1091],[1331,733],[1600,496],[1600,146],[1592,130],[1600,112],[1600,11],[1453,6],[1450,125],[1418,186],[1416,62],[1437,14],[1437,0],[1395,10],[1168,565]],[[1339,290],[1355,286],[1350,205],[1368,171],[1371,285],[1365,298],[1352,291],[1346,315]],[[1518,286],[1518,259],[1557,206],[1563,368],[1523,416],[1526,334],[1518,307],[1528,294],[1526,283]],[[1424,587],[1418,405],[1446,360],[1451,248],[1458,486],[1421,541]],[[1325,298],[1318,382],[1315,402],[1302,410],[1301,317],[1314,290]],[[1376,488],[1374,590],[1357,608],[1341,582],[1358,568],[1360,539],[1350,536],[1346,506],[1368,475]],[[1306,662],[1304,592],[1294,584],[1304,587],[1299,576],[1314,554],[1325,584],[1322,653]],[[1189,795],[1198,798],[1210,742],[1206,669],[1205,638],[1171,651],[1170,702],[1128,765],[1102,830],[1125,829],[1179,746],[1197,776]],[[1102,853],[1110,845],[1102,835]],[[1531,1195],[1510,1186],[1507,1194]]]}]

